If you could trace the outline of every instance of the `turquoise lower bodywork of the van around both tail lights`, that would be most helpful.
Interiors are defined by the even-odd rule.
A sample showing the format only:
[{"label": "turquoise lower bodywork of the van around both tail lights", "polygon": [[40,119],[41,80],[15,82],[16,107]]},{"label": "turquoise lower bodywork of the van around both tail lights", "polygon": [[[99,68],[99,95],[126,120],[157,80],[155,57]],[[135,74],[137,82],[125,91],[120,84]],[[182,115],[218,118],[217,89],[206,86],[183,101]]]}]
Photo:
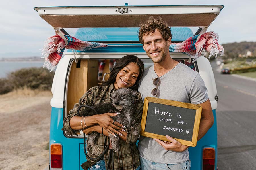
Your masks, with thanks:
[{"label": "turquoise lower bodywork of the van around both tail lights", "polygon": [[[62,145],[63,170],[83,170],[80,166],[86,161],[83,138],[68,138],[64,135],[63,131],[61,130],[63,127],[63,115],[63,108],[52,107],[50,123],[50,145],[52,143],[60,143]],[[208,130],[205,136],[197,142],[197,146],[189,147],[191,170],[202,169],[202,150],[205,147],[215,149],[215,165],[217,165],[217,122],[215,109],[213,110],[213,115],[213,126]]]}]

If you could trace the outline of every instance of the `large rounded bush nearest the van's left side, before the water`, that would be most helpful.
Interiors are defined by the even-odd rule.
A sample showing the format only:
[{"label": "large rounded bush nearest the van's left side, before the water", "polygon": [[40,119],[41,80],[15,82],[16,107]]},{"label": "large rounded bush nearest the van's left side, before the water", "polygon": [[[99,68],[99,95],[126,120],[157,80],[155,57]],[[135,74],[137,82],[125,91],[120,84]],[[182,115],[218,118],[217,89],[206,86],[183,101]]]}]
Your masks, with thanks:
[{"label": "large rounded bush nearest the van's left side, before the water", "polygon": [[51,90],[53,72],[45,68],[23,68],[9,73],[7,79],[15,89],[27,87],[30,89]]}]

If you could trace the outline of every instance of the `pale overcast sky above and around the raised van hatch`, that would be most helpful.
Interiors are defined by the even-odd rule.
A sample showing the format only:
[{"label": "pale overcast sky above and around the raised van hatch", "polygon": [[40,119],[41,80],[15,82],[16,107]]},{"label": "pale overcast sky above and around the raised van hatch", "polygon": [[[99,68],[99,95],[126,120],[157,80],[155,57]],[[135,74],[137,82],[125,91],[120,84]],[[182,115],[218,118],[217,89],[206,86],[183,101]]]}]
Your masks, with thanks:
[{"label": "pale overcast sky above and around the raised van hatch", "polygon": [[[220,36],[220,44],[241,41],[256,41],[256,1],[244,0],[12,0],[1,1],[0,6],[0,57],[7,53],[40,55],[40,48],[46,38],[55,35],[53,28],[38,16],[34,7],[44,6],[94,6],[94,5],[224,5],[225,8],[214,20],[207,31],[214,31]],[[191,3],[193,2],[193,3]]]}]

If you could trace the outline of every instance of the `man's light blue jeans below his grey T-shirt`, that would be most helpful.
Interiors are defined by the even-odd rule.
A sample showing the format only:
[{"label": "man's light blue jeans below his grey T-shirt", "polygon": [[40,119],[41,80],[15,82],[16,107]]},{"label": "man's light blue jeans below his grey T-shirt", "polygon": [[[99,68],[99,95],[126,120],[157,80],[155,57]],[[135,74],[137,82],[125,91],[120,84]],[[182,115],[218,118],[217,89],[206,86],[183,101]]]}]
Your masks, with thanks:
[{"label": "man's light blue jeans below his grey T-shirt", "polygon": [[141,170],[190,170],[190,160],[183,163],[166,164],[156,163],[140,157]]}]

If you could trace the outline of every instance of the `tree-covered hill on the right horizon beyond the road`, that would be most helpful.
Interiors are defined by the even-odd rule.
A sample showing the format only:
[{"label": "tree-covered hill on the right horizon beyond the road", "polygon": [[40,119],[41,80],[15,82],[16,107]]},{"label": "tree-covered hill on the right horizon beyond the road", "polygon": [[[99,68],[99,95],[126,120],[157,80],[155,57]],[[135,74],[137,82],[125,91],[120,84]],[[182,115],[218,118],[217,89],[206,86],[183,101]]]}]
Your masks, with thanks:
[{"label": "tree-covered hill on the right horizon beyond the road", "polygon": [[256,56],[256,42],[234,42],[228,44],[222,44],[224,47],[224,54],[228,58],[236,58],[239,54],[245,55],[247,51],[250,51],[253,56]]}]

